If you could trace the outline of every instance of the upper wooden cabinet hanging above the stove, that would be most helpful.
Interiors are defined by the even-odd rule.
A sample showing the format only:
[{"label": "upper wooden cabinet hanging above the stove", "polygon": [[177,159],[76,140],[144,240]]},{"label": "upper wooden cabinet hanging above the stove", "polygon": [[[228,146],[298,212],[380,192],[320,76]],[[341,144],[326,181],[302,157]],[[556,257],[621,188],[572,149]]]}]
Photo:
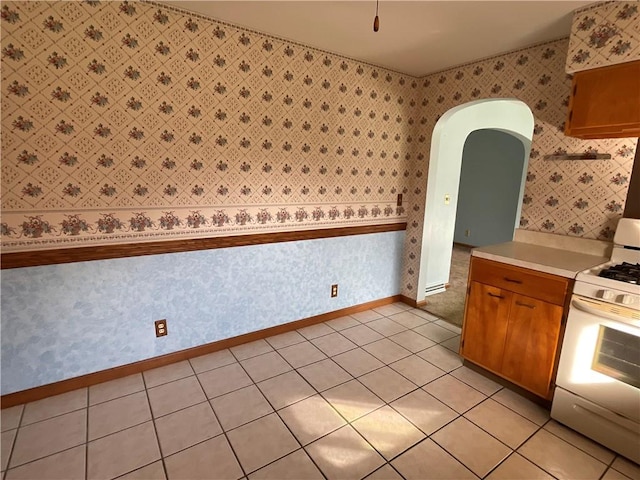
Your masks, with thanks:
[{"label": "upper wooden cabinet hanging above the stove", "polygon": [[577,72],[564,133],[583,139],[640,136],[640,60]]}]

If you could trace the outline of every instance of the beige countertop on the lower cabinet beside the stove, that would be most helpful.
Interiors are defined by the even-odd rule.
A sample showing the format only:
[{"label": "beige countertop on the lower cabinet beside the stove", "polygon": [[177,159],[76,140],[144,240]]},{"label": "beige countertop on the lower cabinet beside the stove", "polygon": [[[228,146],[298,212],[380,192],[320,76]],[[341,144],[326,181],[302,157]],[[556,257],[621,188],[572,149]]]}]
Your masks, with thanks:
[{"label": "beige countertop on the lower cabinet beside the stove", "polygon": [[523,242],[506,242],[477,247],[474,257],[494,260],[539,272],[574,278],[578,272],[607,262],[608,257],[589,255],[560,248],[543,247]]}]

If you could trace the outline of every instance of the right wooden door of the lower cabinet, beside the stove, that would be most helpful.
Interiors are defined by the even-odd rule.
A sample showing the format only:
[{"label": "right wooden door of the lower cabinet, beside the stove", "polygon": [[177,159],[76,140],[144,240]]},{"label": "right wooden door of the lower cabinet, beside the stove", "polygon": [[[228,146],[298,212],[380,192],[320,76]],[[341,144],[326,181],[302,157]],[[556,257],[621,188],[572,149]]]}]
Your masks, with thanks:
[{"label": "right wooden door of the lower cabinet, beside the stove", "polygon": [[513,295],[502,374],[541,397],[549,398],[562,307]]}]

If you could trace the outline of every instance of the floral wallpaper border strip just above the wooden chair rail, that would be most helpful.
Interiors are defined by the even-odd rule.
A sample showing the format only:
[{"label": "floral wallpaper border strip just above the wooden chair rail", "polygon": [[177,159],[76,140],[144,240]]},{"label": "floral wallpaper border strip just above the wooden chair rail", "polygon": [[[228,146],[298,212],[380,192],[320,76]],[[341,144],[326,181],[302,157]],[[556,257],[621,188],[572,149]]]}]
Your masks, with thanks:
[{"label": "floral wallpaper border strip just above the wooden chair rail", "polygon": [[5,237],[2,248],[6,253],[38,252],[406,222],[405,207],[388,202],[382,207],[379,202],[269,207],[146,208],[129,213],[129,218],[120,209],[111,213],[8,212],[0,224]]}]

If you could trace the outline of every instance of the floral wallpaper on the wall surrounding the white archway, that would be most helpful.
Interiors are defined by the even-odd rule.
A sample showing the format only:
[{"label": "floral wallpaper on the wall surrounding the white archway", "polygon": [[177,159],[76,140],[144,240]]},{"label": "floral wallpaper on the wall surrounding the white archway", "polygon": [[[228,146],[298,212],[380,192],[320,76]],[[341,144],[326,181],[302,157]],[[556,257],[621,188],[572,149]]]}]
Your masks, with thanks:
[{"label": "floral wallpaper on the wall surrounding the white archway", "polygon": [[[568,45],[568,39],[557,40],[421,79],[421,105],[429,114],[420,123],[430,145],[436,121],[457,105],[481,98],[522,100],[533,112],[535,127],[520,228],[612,240],[624,210],[637,139],[580,140],[564,135],[571,91],[571,78],[564,71]],[[562,153],[610,153],[612,158],[544,158]],[[411,175],[402,279],[402,293],[414,299],[424,298],[415,291],[423,241],[426,180],[422,172],[423,166],[416,165]]]}]

